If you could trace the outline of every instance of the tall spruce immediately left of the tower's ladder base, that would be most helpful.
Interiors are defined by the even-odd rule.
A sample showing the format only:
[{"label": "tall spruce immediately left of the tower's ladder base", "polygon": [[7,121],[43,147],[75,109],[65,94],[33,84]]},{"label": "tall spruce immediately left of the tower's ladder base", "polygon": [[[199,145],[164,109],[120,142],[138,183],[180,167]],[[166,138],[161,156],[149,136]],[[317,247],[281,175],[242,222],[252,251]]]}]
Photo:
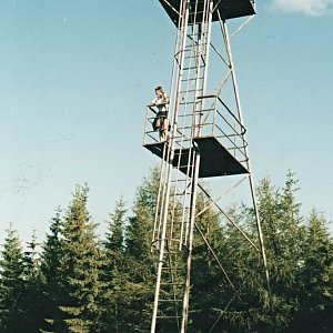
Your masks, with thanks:
[{"label": "tall spruce immediately left of the tower's ladder base", "polygon": [[155,282],[155,265],[151,255],[151,239],[159,190],[159,172],[153,169],[138,188],[133,215],[125,230],[127,331],[147,332],[151,322]]}]

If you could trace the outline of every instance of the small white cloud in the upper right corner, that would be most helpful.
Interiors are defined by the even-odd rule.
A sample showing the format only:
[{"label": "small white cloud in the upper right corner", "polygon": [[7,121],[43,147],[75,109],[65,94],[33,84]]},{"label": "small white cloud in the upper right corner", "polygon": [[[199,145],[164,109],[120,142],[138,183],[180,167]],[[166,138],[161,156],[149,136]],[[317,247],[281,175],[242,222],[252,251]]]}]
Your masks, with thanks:
[{"label": "small white cloud in the upper right corner", "polygon": [[320,17],[329,12],[333,0],[273,0],[273,7],[285,12]]}]

